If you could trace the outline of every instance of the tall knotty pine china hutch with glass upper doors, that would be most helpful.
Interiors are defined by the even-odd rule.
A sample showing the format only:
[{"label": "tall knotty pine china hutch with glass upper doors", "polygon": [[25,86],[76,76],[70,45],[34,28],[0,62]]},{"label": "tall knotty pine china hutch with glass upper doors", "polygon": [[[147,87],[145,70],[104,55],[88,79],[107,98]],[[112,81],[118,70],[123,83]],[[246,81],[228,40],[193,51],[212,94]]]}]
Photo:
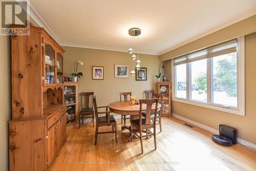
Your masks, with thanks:
[{"label": "tall knotty pine china hutch with glass upper doors", "polygon": [[11,36],[10,170],[49,169],[66,140],[64,52],[43,28]]}]

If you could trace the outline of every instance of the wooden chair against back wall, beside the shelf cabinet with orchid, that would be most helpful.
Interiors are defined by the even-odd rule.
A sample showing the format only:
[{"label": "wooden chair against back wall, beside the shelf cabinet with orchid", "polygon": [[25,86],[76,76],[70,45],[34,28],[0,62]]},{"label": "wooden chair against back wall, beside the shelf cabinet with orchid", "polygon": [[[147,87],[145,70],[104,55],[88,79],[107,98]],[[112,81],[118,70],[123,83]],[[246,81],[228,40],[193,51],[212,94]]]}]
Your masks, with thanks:
[{"label": "wooden chair against back wall, beside the shelf cabinet with orchid", "polygon": [[[78,127],[80,129],[80,119],[92,118],[94,126],[94,111],[93,111],[93,92],[82,92],[81,95],[81,110],[78,112]],[[83,101],[84,99],[84,101]],[[84,117],[89,116],[89,117]]]}]

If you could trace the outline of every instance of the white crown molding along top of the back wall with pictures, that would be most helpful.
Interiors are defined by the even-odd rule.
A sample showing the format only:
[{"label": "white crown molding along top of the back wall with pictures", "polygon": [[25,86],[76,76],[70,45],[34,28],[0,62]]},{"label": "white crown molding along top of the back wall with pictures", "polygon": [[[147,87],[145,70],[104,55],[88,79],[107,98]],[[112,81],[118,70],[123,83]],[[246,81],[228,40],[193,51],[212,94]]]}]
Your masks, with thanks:
[{"label": "white crown molding along top of the back wall with pictures", "polygon": [[[69,42],[61,42],[61,46],[66,47],[75,47],[75,48],[87,48],[87,49],[99,49],[99,50],[106,50],[106,51],[117,51],[117,52],[128,52],[127,49],[118,49],[118,48],[110,48],[110,47],[100,47],[100,46],[91,46],[91,45],[82,45],[82,44],[71,44]],[[158,53],[153,52],[136,52],[139,54],[147,54],[147,55],[159,55]]]}]

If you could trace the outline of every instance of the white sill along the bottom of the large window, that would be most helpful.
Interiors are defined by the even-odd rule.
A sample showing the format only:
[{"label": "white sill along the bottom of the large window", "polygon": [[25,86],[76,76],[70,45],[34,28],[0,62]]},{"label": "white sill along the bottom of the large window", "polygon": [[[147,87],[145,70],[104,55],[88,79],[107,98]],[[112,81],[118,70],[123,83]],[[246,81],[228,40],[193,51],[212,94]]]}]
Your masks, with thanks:
[{"label": "white sill along the bottom of the large window", "polygon": [[222,112],[227,112],[227,113],[231,113],[231,114],[245,116],[245,112],[243,110],[227,109],[227,108],[223,108],[222,106],[218,106],[218,105],[213,105],[213,104],[208,104],[208,103],[203,103],[203,102],[198,102],[198,101],[193,101],[193,100],[186,100],[186,99],[173,98],[173,101],[178,101],[181,103],[201,106],[203,108],[209,108],[209,109],[213,109],[213,110],[217,110],[217,111],[222,111]]}]

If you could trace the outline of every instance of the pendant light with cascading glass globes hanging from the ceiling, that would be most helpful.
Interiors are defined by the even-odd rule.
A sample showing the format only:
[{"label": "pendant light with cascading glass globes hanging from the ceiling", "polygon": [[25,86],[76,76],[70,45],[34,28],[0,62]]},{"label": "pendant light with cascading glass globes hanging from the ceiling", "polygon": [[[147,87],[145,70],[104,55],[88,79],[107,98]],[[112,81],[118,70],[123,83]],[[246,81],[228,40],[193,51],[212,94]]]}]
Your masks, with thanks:
[{"label": "pendant light with cascading glass globes hanging from the ceiling", "polygon": [[[131,28],[128,30],[128,33],[130,35],[130,40],[132,41],[132,46],[133,48],[130,48],[128,50],[129,53],[132,54],[132,62],[136,59],[136,55],[135,55],[135,37],[137,37],[137,65],[136,65],[136,69],[139,70],[140,69],[140,60],[139,60],[139,35],[141,33],[141,30],[139,28]],[[134,68],[134,65],[133,65],[133,68]],[[132,70],[131,71],[131,74],[134,76],[135,75],[135,71]]]}]

